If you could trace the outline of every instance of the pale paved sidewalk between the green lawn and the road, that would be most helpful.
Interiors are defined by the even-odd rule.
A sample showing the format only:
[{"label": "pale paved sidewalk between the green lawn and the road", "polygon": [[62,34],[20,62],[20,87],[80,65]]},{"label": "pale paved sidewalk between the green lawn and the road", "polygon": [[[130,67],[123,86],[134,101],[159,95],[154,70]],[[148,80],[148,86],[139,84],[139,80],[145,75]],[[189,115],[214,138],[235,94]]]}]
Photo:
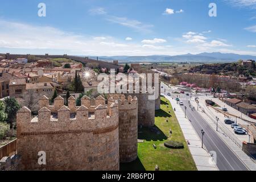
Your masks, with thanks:
[{"label": "pale paved sidewalk between the green lawn and the road", "polygon": [[166,96],[166,98],[171,102],[172,107],[176,108],[175,114],[177,121],[180,124],[185,140],[190,143],[188,147],[196,163],[197,169],[199,171],[218,171],[217,166],[213,164],[213,160],[208,152],[204,148],[201,148],[201,139],[193,129],[191,122],[185,118],[184,111],[181,109],[180,105],[170,97]]}]

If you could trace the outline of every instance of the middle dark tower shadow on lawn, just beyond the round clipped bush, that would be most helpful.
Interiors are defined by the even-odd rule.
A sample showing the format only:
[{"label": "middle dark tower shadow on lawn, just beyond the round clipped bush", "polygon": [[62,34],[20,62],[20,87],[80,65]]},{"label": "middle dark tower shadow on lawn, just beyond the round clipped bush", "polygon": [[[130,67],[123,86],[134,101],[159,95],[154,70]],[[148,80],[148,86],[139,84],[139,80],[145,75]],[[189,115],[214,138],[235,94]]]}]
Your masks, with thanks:
[{"label": "middle dark tower shadow on lawn, just beyond the round clipped bush", "polygon": [[168,137],[157,126],[154,127],[142,127],[138,130],[138,139],[146,141],[163,141]]}]

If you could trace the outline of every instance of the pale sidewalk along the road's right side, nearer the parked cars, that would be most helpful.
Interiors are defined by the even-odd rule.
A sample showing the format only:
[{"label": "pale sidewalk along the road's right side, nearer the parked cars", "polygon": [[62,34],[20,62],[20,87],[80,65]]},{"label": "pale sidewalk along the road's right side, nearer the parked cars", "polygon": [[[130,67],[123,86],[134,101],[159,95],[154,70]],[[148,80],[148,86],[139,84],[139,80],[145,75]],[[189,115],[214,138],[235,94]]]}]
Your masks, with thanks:
[{"label": "pale sidewalk along the road's right side, nearer the parked cars", "polygon": [[[195,98],[192,98],[191,104],[197,108]],[[238,147],[237,144],[234,143],[232,139],[230,139],[225,134],[225,132],[221,130],[221,128],[219,128],[218,131],[216,131],[216,123],[212,121],[211,117],[209,117],[209,115],[211,115],[212,113],[210,113],[210,111],[206,106],[203,107],[201,104],[202,102],[200,103],[201,108],[199,108],[199,114],[202,115],[202,117],[204,118],[209,118],[209,119],[205,119],[205,121],[208,122],[210,127],[212,127],[212,129],[220,136],[220,138],[227,144],[227,146],[234,152],[234,154],[236,154],[238,158],[241,159],[241,161],[247,166],[247,168],[249,168],[251,171],[256,171],[256,163],[254,163],[253,160],[251,160],[249,156],[246,155],[245,152],[243,152],[241,148]],[[202,109],[204,109],[205,113],[208,113],[209,115],[205,114],[202,111]]]}]

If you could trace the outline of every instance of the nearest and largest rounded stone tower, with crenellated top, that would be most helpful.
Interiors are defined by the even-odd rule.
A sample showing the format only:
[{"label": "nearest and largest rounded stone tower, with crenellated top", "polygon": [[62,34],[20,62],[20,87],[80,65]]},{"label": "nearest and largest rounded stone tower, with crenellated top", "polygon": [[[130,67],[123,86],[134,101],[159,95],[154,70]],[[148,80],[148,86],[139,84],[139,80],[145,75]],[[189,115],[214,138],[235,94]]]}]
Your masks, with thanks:
[{"label": "nearest and largest rounded stone tower, with crenellated top", "polygon": [[[60,105],[48,106],[46,98],[43,103],[36,118],[27,107],[17,113],[20,169],[119,170],[118,104],[98,105],[94,113],[82,105],[75,118],[69,118],[69,107],[61,106],[56,118],[51,113]],[[39,151],[46,152],[46,165],[39,166]]]}]

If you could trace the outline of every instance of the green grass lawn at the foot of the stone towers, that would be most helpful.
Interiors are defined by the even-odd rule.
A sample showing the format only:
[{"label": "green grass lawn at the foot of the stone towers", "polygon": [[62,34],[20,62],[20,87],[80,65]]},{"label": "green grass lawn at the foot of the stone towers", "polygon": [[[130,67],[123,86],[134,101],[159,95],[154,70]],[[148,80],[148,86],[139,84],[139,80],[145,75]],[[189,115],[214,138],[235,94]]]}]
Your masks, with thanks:
[{"label": "green grass lawn at the foot of the stone towers", "polygon": [[[168,118],[168,122],[166,122],[166,118]],[[171,136],[170,129],[172,130]],[[144,140],[144,143],[138,143],[138,159],[132,163],[120,164],[121,170],[154,171],[156,164],[160,171],[196,170],[180,125],[166,98],[161,98],[161,109],[155,114],[155,126],[152,129],[146,127],[139,129],[138,139]],[[167,140],[182,142],[184,149],[165,147],[164,142]],[[153,144],[157,146],[156,149]]]}]

